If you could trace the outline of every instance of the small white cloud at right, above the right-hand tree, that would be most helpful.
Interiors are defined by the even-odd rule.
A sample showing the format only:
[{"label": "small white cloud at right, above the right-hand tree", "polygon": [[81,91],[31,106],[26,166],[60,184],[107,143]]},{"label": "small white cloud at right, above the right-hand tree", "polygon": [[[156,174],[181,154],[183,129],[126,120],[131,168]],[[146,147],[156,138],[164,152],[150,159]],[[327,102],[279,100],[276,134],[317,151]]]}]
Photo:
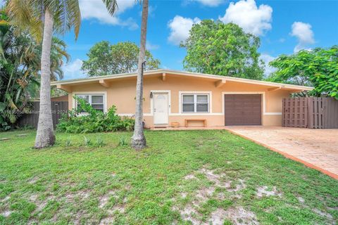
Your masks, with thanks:
[{"label": "small white cloud at right, above the right-hand tree", "polygon": [[294,47],[294,52],[298,52],[301,49],[305,49],[309,44],[315,43],[312,26],[308,23],[294,22],[290,35],[298,39],[298,44]]}]

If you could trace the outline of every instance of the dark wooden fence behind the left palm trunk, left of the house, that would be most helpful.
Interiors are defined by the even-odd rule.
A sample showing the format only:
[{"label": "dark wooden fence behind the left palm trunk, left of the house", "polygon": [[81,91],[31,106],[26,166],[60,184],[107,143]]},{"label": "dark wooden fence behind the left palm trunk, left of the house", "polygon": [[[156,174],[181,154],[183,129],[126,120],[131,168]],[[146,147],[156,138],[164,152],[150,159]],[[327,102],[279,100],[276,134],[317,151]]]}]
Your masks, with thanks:
[{"label": "dark wooden fence behind the left palm trunk, left of the house", "polygon": [[[35,127],[37,128],[37,122],[39,121],[39,108],[40,102],[33,102],[32,110],[30,113],[25,113],[19,117],[16,122],[16,126],[18,127]],[[54,129],[56,124],[58,124],[58,120],[60,120],[63,113],[68,112],[68,101],[52,101],[51,102],[51,115],[53,118],[53,126]]]}]

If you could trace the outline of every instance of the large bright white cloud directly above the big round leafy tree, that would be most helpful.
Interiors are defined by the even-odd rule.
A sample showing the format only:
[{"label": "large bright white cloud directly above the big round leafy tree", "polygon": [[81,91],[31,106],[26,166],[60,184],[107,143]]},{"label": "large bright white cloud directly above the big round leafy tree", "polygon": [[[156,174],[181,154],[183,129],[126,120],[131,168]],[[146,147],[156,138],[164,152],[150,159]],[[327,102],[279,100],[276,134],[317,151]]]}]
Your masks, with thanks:
[{"label": "large bright white cloud directly above the big round leafy tree", "polygon": [[223,23],[235,23],[245,32],[260,36],[271,30],[272,15],[273,8],[268,5],[257,7],[254,0],[241,0],[231,2],[223,18],[219,19]]}]

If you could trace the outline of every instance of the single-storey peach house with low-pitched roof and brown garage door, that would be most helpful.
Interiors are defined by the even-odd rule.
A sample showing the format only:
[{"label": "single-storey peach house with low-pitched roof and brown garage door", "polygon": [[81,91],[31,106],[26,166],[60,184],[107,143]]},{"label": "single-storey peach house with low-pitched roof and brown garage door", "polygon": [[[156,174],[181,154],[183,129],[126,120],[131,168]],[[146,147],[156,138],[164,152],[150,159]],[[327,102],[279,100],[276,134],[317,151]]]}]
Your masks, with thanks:
[{"label": "single-storey peach house with low-pitched roof and brown garage door", "polygon": [[[86,99],[106,112],[112,105],[121,116],[135,112],[136,73],[52,82],[73,96]],[[144,122],[146,127],[225,126],[282,124],[282,98],[311,90],[308,86],[206,75],[175,70],[144,72]],[[196,120],[197,119],[197,120]]]}]

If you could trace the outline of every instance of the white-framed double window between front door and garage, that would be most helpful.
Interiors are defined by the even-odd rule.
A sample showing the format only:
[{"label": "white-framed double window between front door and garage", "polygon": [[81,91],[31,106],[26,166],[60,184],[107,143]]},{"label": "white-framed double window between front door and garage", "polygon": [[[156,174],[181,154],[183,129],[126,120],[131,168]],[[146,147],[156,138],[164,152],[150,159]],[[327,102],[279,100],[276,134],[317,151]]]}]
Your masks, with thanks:
[{"label": "white-framed double window between front door and garage", "polygon": [[182,94],[182,113],[208,113],[208,94]]}]

